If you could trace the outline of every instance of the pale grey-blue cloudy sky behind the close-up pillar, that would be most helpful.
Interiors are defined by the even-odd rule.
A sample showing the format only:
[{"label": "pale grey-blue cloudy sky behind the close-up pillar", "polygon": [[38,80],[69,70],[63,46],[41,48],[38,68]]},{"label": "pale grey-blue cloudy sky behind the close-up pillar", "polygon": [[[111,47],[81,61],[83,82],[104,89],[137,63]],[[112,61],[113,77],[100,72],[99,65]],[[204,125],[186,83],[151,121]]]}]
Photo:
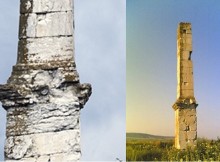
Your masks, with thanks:
[{"label": "pale grey-blue cloudy sky behind the close-up pillar", "polygon": [[[125,159],[125,0],[75,0],[75,59],[93,93],[81,111],[82,161]],[[0,84],[16,63],[19,0],[0,1]],[[0,108],[0,161],[6,112]]]}]

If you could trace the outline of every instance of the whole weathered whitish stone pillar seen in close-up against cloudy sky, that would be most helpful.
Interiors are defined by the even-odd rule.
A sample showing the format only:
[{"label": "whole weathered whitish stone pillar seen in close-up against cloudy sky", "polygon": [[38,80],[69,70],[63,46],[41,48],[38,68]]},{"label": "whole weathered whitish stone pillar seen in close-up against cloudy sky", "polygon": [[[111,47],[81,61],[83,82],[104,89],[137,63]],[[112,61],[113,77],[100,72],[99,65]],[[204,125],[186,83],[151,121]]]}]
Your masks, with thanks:
[{"label": "whole weathered whitish stone pillar seen in close-up against cloudy sky", "polygon": [[72,0],[20,0],[17,64],[0,100],[5,160],[78,161],[80,110],[91,95],[74,60]]}]

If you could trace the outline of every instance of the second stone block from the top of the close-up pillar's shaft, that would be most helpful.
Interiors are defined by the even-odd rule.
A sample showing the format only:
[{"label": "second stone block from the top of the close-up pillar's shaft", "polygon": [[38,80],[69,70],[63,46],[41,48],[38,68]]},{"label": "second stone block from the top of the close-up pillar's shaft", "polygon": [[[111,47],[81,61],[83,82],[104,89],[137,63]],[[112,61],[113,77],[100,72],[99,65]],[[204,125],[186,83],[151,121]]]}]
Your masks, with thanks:
[{"label": "second stone block from the top of the close-up pillar's shaft", "polygon": [[[65,25],[64,25],[65,24]],[[19,38],[73,35],[73,13],[24,14],[20,16]]]}]

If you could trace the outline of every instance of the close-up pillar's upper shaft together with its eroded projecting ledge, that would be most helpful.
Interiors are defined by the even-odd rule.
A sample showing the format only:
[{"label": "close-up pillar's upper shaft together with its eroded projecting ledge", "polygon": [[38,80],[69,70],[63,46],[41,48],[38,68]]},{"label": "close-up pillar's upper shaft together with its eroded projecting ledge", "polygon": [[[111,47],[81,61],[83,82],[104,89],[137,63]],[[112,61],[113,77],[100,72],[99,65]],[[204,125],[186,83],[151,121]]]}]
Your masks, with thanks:
[{"label": "close-up pillar's upper shaft together with its eroded projecting ledge", "polygon": [[70,87],[67,100],[75,96],[83,107],[91,85],[80,84],[76,69],[73,1],[20,2],[17,63],[7,84],[0,85],[3,107],[52,102]]}]

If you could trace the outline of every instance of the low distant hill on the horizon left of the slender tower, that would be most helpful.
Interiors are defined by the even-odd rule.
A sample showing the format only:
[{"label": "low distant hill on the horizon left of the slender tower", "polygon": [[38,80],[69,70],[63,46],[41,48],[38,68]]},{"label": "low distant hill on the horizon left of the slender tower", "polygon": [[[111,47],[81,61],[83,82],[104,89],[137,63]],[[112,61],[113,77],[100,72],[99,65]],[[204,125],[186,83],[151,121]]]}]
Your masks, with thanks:
[{"label": "low distant hill on the horizon left of the slender tower", "polygon": [[126,138],[134,139],[173,139],[172,136],[157,136],[146,133],[126,133]]}]

